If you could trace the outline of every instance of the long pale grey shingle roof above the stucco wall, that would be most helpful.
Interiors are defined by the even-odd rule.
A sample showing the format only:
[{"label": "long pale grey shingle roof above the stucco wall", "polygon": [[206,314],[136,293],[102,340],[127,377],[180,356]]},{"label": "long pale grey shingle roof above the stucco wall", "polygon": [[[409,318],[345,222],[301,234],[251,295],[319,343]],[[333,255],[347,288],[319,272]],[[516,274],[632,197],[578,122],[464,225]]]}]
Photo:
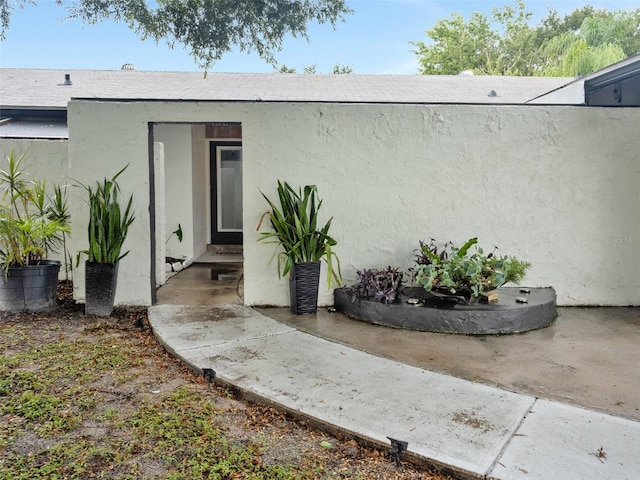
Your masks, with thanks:
[{"label": "long pale grey shingle roof above the stucco wall", "polygon": [[[64,85],[70,74],[72,85]],[[524,103],[570,78],[303,75],[0,69],[3,108],[64,109],[71,98],[337,103]],[[491,91],[497,96],[489,96]]]}]

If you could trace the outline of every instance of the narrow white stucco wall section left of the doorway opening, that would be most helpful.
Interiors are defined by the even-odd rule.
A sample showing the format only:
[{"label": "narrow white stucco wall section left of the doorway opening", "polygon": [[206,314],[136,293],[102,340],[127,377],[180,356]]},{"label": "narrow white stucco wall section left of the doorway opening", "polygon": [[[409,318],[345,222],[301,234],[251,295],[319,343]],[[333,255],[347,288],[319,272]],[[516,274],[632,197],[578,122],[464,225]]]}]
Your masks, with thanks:
[{"label": "narrow white stucco wall section left of the doorway opening", "polygon": [[[131,103],[69,103],[69,161],[73,178],[95,184],[111,178],[125,165],[118,178],[122,198],[133,193],[135,221],[123,245],[130,253],[120,262],[115,302],[119,305],[149,305],[152,298],[152,231],[149,216],[149,125],[145,108]],[[86,195],[85,195],[86,196]],[[87,199],[79,198],[72,211],[72,251],[86,250]],[[77,232],[77,233],[76,233]],[[155,255],[154,255],[155,256]],[[74,298],[84,302],[84,264],[74,270]]]}]

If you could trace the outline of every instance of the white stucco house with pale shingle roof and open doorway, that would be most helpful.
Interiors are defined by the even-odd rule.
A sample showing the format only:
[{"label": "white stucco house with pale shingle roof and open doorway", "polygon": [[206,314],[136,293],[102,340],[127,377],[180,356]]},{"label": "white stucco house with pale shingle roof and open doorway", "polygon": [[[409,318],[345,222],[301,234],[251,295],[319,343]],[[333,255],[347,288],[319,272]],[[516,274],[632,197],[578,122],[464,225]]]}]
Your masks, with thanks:
[{"label": "white stucco house with pale shingle roof and open doorway", "polygon": [[[241,243],[246,305],[288,305],[258,243],[261,191],[316,184],[344,282],[419,240],[497,245],[560,305],[640,304],[640,110],[541,100],[573,79],[0,69],[0,153],[52,181],[129,165],[116,303],[151,305],[166,255]],[[559,97],[558,97],[559,98]],[[541,102],[534,103],[533,101]],[[636,104],[637,105],[637,104]],[[71,251],[87,208],[71,189]],[[170,233],[180,224],[181,243]],[[84,272],[73,272],[84,300]],[[332,292],[321,283],[320,303]]]}]

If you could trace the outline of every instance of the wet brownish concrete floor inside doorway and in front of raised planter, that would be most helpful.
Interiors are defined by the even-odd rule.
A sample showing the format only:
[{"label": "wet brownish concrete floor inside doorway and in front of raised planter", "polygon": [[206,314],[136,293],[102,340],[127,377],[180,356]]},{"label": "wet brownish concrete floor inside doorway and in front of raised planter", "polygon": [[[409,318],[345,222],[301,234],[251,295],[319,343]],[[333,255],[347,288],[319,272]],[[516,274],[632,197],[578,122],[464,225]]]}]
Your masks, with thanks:
[{"label": "wet brownish concrete floor inside doorway and in front of raised planter", "polygon": [[[235,260],[235,262],[234,262]],[[198,259],[158,290],[158,303],[242,304],[241,257]],[[559,308],[549,327],[465,336],[374,326],[320,308],[259,308],[299,330],[374,355],[505,390],[640,420],[640,308]]]}]

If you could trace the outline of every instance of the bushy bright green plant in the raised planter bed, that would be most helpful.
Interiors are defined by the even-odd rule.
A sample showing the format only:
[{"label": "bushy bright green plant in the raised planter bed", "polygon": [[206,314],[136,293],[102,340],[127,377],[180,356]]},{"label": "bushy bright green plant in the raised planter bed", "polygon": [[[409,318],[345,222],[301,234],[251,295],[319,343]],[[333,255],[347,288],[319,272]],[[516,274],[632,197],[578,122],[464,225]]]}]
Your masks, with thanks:
[{"label": "bushy bright green plant in the raised planter bed", "polygon": [[428,244],[420,242],[415,282],[427,292],[464,298],[467,303],[477,301],[505,283],[522,282],[531,267],[529,262],[513,256],[498,256],[497,248],[488,255],[482,248],[470,252],[477,243],[474,237],[461,247],[448,242],[439,249],[433,239]]}]

